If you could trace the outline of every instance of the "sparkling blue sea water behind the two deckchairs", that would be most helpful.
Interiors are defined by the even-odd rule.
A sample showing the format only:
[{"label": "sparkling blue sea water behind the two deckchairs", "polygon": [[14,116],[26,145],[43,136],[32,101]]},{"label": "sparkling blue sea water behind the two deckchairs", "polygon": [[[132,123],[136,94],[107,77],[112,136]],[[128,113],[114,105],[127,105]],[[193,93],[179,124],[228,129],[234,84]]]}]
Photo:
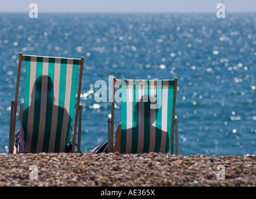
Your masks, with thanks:
[{"label": "sparkling blue sea water behind the two deckchairs", "polygon": [[[111,103],[95,101],[94,83],[114,75],[178,77],[181,155],[256,154],[256,14],[0,14],[0,21],[0,152],[23,52],[85,57],[82,152],[107,141]],[[120,111],[116,103],[115,129]]]}]

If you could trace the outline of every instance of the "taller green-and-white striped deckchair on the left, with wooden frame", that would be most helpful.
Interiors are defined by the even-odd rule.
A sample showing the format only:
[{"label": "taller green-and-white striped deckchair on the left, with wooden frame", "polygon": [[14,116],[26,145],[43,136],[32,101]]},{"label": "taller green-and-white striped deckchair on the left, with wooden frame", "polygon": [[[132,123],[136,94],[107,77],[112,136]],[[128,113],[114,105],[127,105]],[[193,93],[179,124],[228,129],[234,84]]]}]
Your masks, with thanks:
[{"label": "taller green-and-white striped deckchair on the left, with wooden frame", "polygon": [[[80,121],[78,137],[81,136],[81,105],[79,103],[84,57],[81,59],[41,57],[20,53],[16,95],[11,103],[9,153],[14,152],[22,62],[26,63],[24,66],[26,68],[24,104],[21,110],[25,152],[68,152],[71,149],[71,136],[71,152],[74,152],[78,119]],[[79,144],[80,141],[78,141],[78,152]]]}]

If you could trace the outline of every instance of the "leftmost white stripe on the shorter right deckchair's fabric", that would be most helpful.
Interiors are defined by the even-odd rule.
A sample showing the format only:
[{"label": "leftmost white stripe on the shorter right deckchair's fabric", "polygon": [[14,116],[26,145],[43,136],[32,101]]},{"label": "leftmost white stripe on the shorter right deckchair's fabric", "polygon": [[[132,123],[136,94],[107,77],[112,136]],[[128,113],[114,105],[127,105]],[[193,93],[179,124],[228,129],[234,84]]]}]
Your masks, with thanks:
[{"label": "leftmost white stripe on the shorter right deckchair's fabric", "polygon": [[126,121],[126,153],[132,150],[132,99],[133,99],[133,80],[127,80],[127,121]]}]

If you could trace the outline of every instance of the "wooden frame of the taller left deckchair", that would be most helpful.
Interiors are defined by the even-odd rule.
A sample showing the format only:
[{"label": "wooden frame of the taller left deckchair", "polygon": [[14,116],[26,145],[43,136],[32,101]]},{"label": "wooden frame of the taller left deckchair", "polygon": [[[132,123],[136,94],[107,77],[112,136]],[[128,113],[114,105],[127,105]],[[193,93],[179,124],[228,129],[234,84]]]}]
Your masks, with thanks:
[{"label": "wooden frame of the taller left deckchair", "polygon": [[[30,55],[29,55],[30,56]],[[16,113],[17,113],[17,100],[19,95],[19,81],[21,78],[21,64],[22,61],[24,61],[26,58],[26,55],[22,55],[22,52],[19,53],[19,65],[18,65],[18,71],[17,71],[17,83],[16,83],[16,93],[15,93],[15,100],[11,101],[11,119],[10,119],[10,131],[9,131],[9,153],[12,154],[14,152],[14,139],[15,139],[15,126],[16,126]],[[57,58],[57,57],[55,57]],[[81,86],[82,86],[82,72],[84,68],[84,57],[81,57],[79,59],[80,65],[80,71],[79,71],[79,84],[78,84],[78,90],[77,90],[77,103],[76,103],[76,116],[75,116],[75,122],[74,122],[74,134],[73,134],[73,142],[72,142],[72,151],[74,152],[75,146],[76,146],[76,132],[77,132],[77,121],[79,117],[79,121],[81,121],[81,109],[82,106],[80,105],[80,95],[81,95]],[[81,131],[81,124],[79,124],[79,131]],[[79,137],[81,136],[81,132],[79,132]],[[79,141],[80,143],[80,141]],[[77,152],[80,150],[80,146],[77,147]]]}]

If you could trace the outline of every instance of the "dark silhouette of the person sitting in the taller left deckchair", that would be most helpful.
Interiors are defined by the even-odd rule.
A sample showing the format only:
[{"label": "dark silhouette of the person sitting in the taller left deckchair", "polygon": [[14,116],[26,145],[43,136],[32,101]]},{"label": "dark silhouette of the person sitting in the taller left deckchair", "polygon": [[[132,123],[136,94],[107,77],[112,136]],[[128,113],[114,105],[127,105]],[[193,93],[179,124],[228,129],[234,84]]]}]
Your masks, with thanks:
[{"label": "dark silhouette of the person sitting in the taller left deckchair", "polygon": [[[71,149],[72,119],[66,108],[56,105],[54,101],[50,76],[39,76],[34,82],[29,106],[24,109],[24,102],[20,104],[18,119],[21,129],[17,152],[59,152],[63,139],[66,140],[64,152]],[[41,146],[39,151],[38,144]]]}]

